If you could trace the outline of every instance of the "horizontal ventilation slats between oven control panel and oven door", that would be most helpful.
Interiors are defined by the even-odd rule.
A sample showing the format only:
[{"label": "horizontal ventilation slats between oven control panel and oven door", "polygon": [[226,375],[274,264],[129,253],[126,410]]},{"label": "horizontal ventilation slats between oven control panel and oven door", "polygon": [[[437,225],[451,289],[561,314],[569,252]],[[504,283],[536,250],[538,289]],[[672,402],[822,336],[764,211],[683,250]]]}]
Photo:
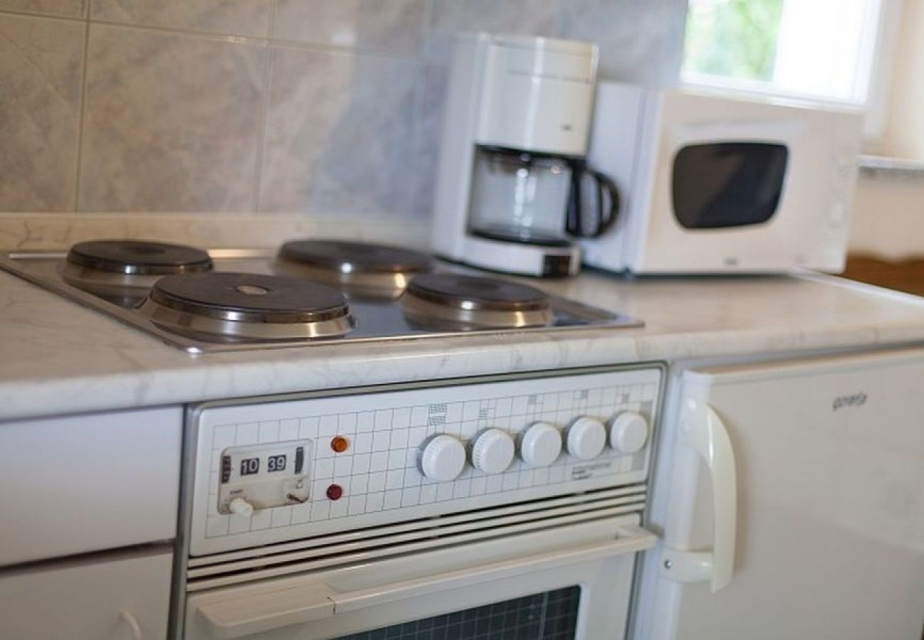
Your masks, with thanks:
[{"label": "horizontal ventilation slats between oven control panel and oven door", "polygon": [[644,484],[601,489],[190,558],[187,589],[199,591],[640,512],[646,492]]}]

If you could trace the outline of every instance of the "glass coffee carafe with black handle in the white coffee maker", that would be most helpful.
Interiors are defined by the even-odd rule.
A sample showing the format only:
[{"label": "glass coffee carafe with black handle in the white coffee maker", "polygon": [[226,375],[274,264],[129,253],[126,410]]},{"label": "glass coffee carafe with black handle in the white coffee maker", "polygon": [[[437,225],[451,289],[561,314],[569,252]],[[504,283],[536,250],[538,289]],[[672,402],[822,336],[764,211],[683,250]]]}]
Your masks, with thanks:
[{"label": "glass coffee carafe with black handle in the white coffee maker", "polygon": [[602,234],[619,207],[613,181],[576,158],[479,147],[472,180],[469,232],[490,240],[565,247]]}]

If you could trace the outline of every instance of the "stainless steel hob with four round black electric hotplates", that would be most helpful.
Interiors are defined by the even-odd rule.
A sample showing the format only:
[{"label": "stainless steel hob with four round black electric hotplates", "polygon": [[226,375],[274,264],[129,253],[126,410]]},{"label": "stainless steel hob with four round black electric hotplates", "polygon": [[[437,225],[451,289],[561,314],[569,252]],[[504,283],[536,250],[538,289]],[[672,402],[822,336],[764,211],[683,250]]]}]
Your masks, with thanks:
[{"label": "stainless steel hob with four round black electric hotplates", "polygon": [[[419,253],[346,246],[350,243],[325,253],[312,242],[287,243],[278,254],[210,250],[211,265],[202,255],[182,255],[196,266],[165,276],[140,273],[144,269],[134,266],[120,271],[99,260],[79,265],[77,274],[67,252],[6,252],[0,254],[0,268],[193,354],[642,326],[623,314],[548,295],[541,287],[420,259]],[[349,261],[339,255],[341,249],[357,248],[365,250],[364,257]],[[103,250],[107,257],[111,248]],[[135,248],[142,255],[149,251]],[[307,262],[298,264],[306,256]],[[317,272],[330,265],[338,276]],[[142,277],[128,278],[131,282],[122,286],[136,274]],[[96,280],[103,286],[94,286]]]}]

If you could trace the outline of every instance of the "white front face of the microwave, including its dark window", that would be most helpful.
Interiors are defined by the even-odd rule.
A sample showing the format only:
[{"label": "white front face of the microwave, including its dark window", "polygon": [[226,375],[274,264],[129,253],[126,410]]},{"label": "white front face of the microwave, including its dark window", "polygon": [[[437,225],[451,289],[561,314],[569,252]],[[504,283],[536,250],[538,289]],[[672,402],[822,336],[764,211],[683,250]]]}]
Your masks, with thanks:
[{"label": "white front face of the microwave, including its dark window", "polygon": [[842,266],[857,114],[686,94],[662,105],[653,160],[635,181],[650,204],[634,212],[630,270]]}]

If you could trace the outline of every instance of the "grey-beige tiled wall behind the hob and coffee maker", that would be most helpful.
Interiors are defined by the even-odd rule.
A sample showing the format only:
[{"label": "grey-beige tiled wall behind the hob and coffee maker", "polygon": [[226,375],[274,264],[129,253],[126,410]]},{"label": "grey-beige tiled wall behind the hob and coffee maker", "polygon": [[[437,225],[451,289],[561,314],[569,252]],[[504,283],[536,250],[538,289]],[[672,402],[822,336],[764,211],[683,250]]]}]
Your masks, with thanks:
[{"label": "grey-beige tiled wall behind the hob and coffee maker", "polygon": [[[416,225],[432,215],[457,32],[595,40],[602,78],[669,85],[686,6],[0,0],[0,211],[143,222],[152,211],[260,209]],[[57,18],[88,15],[84,62],[85,23]]]}]

